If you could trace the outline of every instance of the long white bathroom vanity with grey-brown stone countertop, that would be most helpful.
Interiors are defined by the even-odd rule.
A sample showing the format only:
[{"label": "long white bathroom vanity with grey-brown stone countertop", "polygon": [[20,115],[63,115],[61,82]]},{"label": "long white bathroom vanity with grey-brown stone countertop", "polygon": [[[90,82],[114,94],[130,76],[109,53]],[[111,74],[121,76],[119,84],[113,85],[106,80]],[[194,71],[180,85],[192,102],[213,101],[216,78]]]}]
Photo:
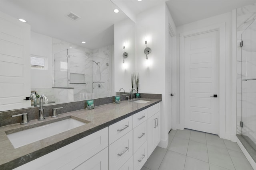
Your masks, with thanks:
[{"label": "long white bathroom vanity with grey-brown stone countertop", "polygon": [[[0,127],[0,169],[140,170],[160,142],[160,102],[122,101]],[[84,125],[16,148],[7,137],[66,119]]]}]

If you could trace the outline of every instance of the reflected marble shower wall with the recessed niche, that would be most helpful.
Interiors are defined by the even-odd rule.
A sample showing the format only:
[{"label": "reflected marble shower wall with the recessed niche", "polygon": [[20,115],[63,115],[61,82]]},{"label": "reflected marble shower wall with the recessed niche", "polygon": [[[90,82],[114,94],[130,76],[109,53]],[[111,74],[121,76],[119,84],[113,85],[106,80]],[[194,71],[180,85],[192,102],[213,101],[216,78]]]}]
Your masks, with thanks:
[{"label": "reflected marble shower wall with the recessed niche", "polygon": [[[52,63],[54,86],[74,88],[73,100],[86,100],[86,94],[92,93],[92,53],[90,50],[53,38],[52,52],[55,59]],[[70,82],[67,81],[68,79]],[[68,90],[64,88],[56,91],[59,95],[68,93]],[[62,96],[59,97],[62,98]],[[70,97],[69,99],[72,100]],[[71,102],[70,100],[68,102]]]}]

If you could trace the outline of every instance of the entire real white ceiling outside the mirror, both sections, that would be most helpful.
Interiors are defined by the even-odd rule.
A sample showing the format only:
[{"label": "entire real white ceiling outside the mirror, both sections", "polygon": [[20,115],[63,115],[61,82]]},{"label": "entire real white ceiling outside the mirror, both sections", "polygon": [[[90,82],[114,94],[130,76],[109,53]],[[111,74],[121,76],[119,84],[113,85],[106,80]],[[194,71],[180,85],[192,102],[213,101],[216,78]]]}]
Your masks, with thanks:
[{"label": "entire real white ceiling outside the mirror, both sections", "polygon": [[135,15],[162,2],[170,11],[176,27],[212,16],[231,12],[256,0],[121,0]]}]

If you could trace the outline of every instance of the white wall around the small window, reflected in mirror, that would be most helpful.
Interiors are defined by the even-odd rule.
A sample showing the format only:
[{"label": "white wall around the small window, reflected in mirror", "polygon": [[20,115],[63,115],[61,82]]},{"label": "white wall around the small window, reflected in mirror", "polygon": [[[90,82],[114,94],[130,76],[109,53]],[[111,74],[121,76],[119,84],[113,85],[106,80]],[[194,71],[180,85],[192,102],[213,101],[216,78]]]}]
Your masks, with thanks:
[{"label": "white wall around the small window, reflected in mirror", "polygon": [[31,88],[52,88],[52,37],[31,31],[30,53],[47,57],[47,70],[31,69]]}]

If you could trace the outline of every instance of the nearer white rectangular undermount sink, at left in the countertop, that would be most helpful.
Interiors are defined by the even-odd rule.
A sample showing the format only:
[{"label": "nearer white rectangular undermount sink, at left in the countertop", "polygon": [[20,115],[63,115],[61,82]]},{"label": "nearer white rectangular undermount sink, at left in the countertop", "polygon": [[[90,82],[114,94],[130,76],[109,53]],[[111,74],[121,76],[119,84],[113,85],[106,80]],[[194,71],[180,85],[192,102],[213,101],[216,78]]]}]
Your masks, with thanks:
[{"label": "nearer white rectangular undermount sink, at left in the countertop", "polygon": [[18,148],[85,124],[86,123],[82,121],[78,121],[70,117],[54,123],[11,133],[8,134],[7,137],[11,141],[14,148]]}]

